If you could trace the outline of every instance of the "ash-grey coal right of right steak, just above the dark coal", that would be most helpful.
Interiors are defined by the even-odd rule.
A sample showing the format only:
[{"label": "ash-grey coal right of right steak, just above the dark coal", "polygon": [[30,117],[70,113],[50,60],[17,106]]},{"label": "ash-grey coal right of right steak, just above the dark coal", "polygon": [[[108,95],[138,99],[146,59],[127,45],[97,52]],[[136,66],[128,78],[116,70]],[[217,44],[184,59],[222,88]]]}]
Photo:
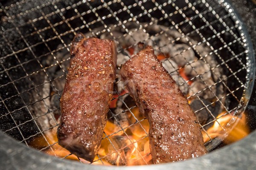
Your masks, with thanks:
[{"label": "ash-grey coal right of right steak, just above the dark coal", "polygon": [[[207,86],[209,87],[210,85],[213,85],[214,82],[212,81],[212,79],[206,79],[204,80],[207,84]],[[197,96],[200,96],[203,99],[213,99],[215,96],[214,94],[216,94],[216,85],[211,87],[211,90],[209,88],[207,88],[207,86],[204,84],[204,82],[201,79],[196,79],[194,82],[192,82],[191,84],[191,89],[195,92],[198,93],[196,94]],[[207,88],[207,89],[205,89]],[[204,90],[205,89],[205,90]],[[190,90],[189,91],[189,96],[192,96],[194,94],[194,92]],[[203,91],[204,90],[204,91]]]}]

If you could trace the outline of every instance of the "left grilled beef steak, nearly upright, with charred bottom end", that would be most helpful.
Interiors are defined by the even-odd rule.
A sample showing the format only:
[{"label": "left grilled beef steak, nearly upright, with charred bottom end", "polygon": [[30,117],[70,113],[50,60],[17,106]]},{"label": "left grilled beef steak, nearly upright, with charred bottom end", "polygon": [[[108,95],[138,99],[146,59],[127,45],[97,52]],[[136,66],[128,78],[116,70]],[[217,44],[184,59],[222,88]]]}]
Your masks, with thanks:
[{"label": "left grilled beef steak, nearly upright, with charred bottom end", "polygon": [[77,34],[61,96],[58,144],[92,162],[106,125],[116,78],[116,45],[112,40]]}]

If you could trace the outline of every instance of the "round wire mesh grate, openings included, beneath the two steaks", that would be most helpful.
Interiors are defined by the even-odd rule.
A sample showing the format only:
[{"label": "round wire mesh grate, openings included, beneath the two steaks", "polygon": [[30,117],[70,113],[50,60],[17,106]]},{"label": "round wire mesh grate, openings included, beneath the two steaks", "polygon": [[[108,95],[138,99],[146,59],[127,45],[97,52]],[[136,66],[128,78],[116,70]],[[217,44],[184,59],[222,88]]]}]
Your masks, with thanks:
[{"label": "round wire mesh grate, openings included, beneath the two steaks", "polygon": [[[34,142],[34,147],[58,156],[57,142],[47,134],[58,126],[58,99],[67,74],[71,41],[78,31],[87,37],[115,40],[121,59],[118,68],[131,57],[131,50],[136,51],[139,42],[153,46],[187,99],[198,103],[193,108],[195,114],[208,114],[207,122],[199,121],[208,142],[213,140],[207,133],[213,123],[225,130],[218,120],[244,107],[241,97],[248,88],[250,50],[241,23],[224,1],[11,0],[0,5],[0,128],[27,145],[40,139],[43,146]],[[182,50],[171,51],[179,45],[183,45]],[[183,56],[191,51],[194,58]],[[175,63],[180,56],[183,64]],[[204,69],[198,65],[204,65]],[[184,76],[187,70],[193,73],[190,77]],[[196,88],[195,82],[201,88]],[[133,146],[138,160],[148,164],[150,153],[141,155],[137,147],[148,136],[147,120],[134,112],[135,103],[121,87],[117,79],[112,102],[120,107],[111,108],[108,116],[116,129],[105,130],[102,139],[113,150],[99,153],[95,162],[105,165],[104,161],[116,154],[121,165],[128,165],[122,150]],[[130,116],[128,123],[120,119],[122,115]],[[143,134],[137,139],[131,138],[135,127]],[[119,134],[128,142],[116,148],[113,136]],[[67,153],[61,157],[71,156]]]}]

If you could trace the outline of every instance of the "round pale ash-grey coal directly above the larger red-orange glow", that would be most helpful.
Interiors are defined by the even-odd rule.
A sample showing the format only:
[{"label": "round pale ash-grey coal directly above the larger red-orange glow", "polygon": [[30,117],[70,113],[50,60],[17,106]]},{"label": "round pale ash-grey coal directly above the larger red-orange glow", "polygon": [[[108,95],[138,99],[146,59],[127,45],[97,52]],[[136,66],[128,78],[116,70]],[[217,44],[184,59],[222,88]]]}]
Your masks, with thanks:
[{"label": "round pale ash-grey coal directly above the larger red-orange glow", "polygon": [[195,60],[195,53],[192,48],[189,48],[189,45],[186,44],[177,44],[173,47],[172,59],[177,63],[177,65],[183,66],[188,62]]}]

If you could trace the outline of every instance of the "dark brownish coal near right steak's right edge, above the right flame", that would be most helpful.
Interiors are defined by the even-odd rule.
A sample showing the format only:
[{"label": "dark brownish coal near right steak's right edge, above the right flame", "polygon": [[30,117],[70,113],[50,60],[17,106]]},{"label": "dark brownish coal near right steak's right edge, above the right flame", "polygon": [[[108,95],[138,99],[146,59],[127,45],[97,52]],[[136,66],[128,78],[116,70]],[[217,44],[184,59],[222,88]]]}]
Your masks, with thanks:
[{"label": "dark brownish coal near right steak's right edge, above the right flame", "polygon": [[[204,102],[205,105],[211,104],[211,102],[208,102],[207,100],[204,100],[204,99],[201,99],[201,100]],[[206,123],[208,123],[207,120],[209,119],[209,117],[211,117],[211,114],[209,113],[209,111],[211,111],[211,112],[214,111],[214,108],[212,107],[212,105],[208,106],[209,111],[207,111],[207,109],[204,108],[203,103],[199,99],[194,99],[190,103],[190,106],[191,106],[192,110],[194,111],[195,116],[198,119],[198,122],[201,125],[205,125]],[[201,111],[198,111],[201,108],[204,108],[204,109],[202,109]],[[196,111],[198,111],[198,112],[196,112]]]}]

